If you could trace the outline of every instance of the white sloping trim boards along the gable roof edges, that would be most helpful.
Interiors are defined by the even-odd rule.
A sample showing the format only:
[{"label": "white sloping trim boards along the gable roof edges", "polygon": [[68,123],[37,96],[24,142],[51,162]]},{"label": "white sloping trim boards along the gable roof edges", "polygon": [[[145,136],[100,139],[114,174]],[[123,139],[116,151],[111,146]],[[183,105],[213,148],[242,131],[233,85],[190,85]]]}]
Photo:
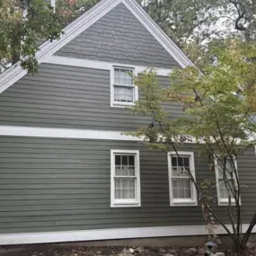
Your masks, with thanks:
[{"label": "white sloping trim boards along the gable roof edges", "polygon": [[[64,34],[60,40],[53,42],[46,41],[40,46],[40,50],[37,52],[36,57],[39,62],[46,62],[50,56],[57,52],[58,49],[64,47],[68,42],[74,40],[80,33],[88,29],[94,22],[97,22],[106,13],[109,13],[118,4],[123,3],[128,7],[128,10],[133,13],[139,22],[141,22],[146,29],[154,36],[164,49],[181,65],[194,66],[178,46],[160,29],[160,27],[149,17],[149,15],[143,10],[143,8],[137,4],[136,0],[102,0],[98,4],[95,4],[93,8],[75,19],[63,30]],[[18,62],[15,65],[7,69],[0,75],[0,93],[4,92],[8,87],[17,82],[27,72],[21,67],[21,63]]]}]

